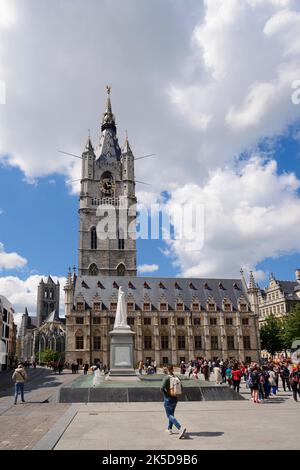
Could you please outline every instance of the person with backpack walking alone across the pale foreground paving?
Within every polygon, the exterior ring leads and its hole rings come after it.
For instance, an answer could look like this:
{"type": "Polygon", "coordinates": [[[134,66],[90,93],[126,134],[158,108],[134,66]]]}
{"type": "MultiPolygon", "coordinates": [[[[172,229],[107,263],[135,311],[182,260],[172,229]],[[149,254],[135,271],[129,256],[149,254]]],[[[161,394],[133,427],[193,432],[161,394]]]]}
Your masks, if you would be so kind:
{"type": "Polygon", "coordinates": [[[180,431],[179,439],[182,439],[186,433],[186,428],[182,427],[174,416],[178,396],[182,394],[181,381],[174,375],[173,366],[164,369],[164,373],[166,375],[162,381],[161,391],[164,394],[164,407],[169,420],[167,432],[173,434],[172,428],[174,425],[180,431]]]}

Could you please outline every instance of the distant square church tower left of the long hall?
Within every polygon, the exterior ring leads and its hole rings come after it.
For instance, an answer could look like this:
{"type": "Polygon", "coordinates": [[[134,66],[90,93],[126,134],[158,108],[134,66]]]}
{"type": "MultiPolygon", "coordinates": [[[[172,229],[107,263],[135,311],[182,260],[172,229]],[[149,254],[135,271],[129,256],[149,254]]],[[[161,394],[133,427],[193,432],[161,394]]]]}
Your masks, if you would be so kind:
{"type": "Polygon", "coordinates": [[[42,279],[39,283],[36,311],[38,327],[53,311],[59,314],[59,292],[59,282],[55,283],[51,276],[48,277],[47,282],[42,279]]]}

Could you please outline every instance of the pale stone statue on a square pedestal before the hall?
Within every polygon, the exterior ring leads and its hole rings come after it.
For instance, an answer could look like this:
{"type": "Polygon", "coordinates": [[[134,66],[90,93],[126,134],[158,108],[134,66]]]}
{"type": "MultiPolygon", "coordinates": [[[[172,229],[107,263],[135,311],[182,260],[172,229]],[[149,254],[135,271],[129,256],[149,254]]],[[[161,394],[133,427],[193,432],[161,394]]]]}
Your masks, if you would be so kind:
{"type": "Polygon", "coordinates": [[[127,303],[122,287],[119,287],[117,312],[114,329],[110,334],[110,372],[109,379],[138,377],[133,366],[134,332],[127,324],[127,303]]]}

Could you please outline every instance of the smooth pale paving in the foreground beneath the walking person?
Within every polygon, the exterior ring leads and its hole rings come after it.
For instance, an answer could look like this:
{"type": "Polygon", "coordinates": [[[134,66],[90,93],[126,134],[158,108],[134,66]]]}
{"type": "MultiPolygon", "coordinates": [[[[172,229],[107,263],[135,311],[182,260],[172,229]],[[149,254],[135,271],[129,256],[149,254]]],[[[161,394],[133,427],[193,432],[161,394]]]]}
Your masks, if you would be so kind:
{"type": "Polygon", "coordinates": [[[251,401],[180,402],[186,439],[165,432],[162,403],[78,405],[55,450],[300,449],[300,403],[290,394],[251,401]]]}

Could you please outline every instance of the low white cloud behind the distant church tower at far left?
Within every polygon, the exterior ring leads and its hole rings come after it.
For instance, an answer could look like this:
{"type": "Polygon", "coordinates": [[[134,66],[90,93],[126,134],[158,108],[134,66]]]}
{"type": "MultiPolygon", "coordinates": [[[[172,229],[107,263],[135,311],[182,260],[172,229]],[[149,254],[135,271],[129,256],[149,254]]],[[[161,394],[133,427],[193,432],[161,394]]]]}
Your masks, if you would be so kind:
{"type": "MultiPolygon", "coordinates": [[[[36,315],[37,288],[41,278],[48,276],[33,275],[22,280],[16,276],[0,277],[0,294],[7,297],[17,314],[23,314],[27,307],[29,314],[36,315]]],[[[64,311],[65,277],[51,276],[54,282],[60,283],[60,312],[64,311]]]]}

